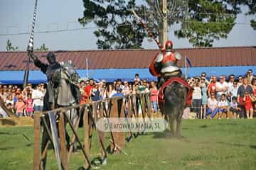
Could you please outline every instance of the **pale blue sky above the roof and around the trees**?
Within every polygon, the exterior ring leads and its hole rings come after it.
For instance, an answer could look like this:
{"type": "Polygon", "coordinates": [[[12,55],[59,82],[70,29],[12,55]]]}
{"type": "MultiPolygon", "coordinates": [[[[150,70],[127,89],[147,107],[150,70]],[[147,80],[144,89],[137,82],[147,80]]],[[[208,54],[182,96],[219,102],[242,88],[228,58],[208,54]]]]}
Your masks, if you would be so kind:
{"type": "MultiPolygon", "coordinates": [[[[0,51],[6,50],[6,41],[11,40],[19,50],[26,50],[28,45],[28,34],[3,35],[28,33],[31,28],[33,8],[35,0],[0,0],[0,51]]],[[[247,8],[242,8],[244,12],[247,8]]],[[[82,28],[78,18],[83,16],[82,0],[38,0],[38,13],[36,18],[37,31],[53,31],[61,29],[82,28]]],[[[256,45],[256,30],[250,27],[250,18],[256,16],[245,16],[240,14],[237,24],[228,35],[227,39],[214,42],[215,47],[228,46],[250,46],[256,45]]],[[[92,24],[86,26],[89,29],[75,30],[60,33],[35,33],[35,48],[43,43],[50,50],[95,50],[97,38],[93,35],[96,29],[92,24]]],[[[169,39],[173,40],[174,47],[192,47],[186,39],[174,37],[174,28],[169,28],[169,39]]],[[[154,41],[144,40],[143,47],[156,49],[154,41]]]]}

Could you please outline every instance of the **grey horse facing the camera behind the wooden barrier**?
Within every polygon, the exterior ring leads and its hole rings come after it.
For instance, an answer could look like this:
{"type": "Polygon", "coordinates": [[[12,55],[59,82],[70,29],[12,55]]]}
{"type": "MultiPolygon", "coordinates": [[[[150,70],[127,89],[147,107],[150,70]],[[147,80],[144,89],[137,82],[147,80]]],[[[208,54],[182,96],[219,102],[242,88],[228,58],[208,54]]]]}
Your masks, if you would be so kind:
{"type": "MultiPolygon", "coordinates": [[[[76,85],[79,77],[78,73],[75,71],[75,68],[70,62],[62,62],[60,63],[60,68],[56,69],[53,73],[53,86],[54,86],[54,108],[60,107],[67,107],[67,106],[75,106],[79,104],[80,101],[80,91],[78,86],[76,85]]],[[[48,102],[48,92],[46,91],[46,96],[43,99],[44,103],[44,110],[49,111],[50,106],[48,102]]],[[[69,111],[64,113],[67,117],[72,121],[73,125],[77,123],[78,120],[78,109],[72,108],[69,111]]],[[[58,124],[58,114],[56,117],[57,124],[58,124]]],[[[42,144],[41,150],[45,149],[46,145],[48,145],[49,138],[49,129],[50,129],[50,121],[49,117],[46,114],[46,118],[43,118],[46,122],[47,127],[43,128],[43,137],[42,137],[42,144]],[[47,130],[48,128],[48,130],[47,130]],[[47,132],[48,131],[48,132],[47,132]]],[[[67,120],[65,120],[65,123],[67,120]]],[[[57,126],[58,127],[58,126],[57,126]]],[[[67,130],[65,130],[67,146],[70,147],[70,137],[68,135],[67,130]]],[[[75,147],[75,145],[73,146],[75,147]]],[[[76,148],[76,147],[75,147],[76,148]]],[[[45,159],[42,160],[41,166],[45,169],[46,166],[46,155],[44,156],[45,159]]]]}

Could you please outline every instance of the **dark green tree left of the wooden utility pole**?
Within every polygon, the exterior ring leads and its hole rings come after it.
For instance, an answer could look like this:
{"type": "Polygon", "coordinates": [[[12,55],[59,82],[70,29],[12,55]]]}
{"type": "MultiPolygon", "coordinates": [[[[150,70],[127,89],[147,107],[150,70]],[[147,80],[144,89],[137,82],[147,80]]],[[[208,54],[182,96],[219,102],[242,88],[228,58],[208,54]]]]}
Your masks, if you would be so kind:
{"type": "Polygon", "coordinates": [[[129,11],[135,0],[83,0],[85,11],[78,21],[94,22],[99,29],[94,34],[100,49],[141,48],[146,33],[142,25],[129,11]]]}

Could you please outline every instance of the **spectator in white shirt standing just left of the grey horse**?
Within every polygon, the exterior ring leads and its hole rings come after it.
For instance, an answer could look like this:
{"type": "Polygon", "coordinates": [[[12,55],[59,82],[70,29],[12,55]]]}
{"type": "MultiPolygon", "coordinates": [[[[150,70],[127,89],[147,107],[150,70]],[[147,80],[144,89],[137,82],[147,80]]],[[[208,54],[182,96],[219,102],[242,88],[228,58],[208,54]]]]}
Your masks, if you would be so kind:
{"type": "Polygon", "coordinates": [[[43,111],[43,91],[41,91],[41,84],[36,86],[36,89],[32,91],[33,110],[43,111]]]}

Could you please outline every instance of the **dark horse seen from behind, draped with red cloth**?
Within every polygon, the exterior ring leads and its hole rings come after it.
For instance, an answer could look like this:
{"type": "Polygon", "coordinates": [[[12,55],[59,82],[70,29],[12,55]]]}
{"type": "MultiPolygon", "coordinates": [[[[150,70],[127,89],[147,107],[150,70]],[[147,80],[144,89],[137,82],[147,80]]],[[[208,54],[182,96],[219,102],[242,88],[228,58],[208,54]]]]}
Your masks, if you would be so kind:
{"type": "Polygon", "coordinates": [[[181,137],[181,118],[190,95],[191,87],[181,77],[181,74],[178,77],[168,77],[161,86],[159,108],[169,121],[171,136],[181,137]]]}

